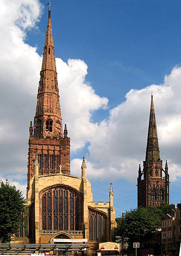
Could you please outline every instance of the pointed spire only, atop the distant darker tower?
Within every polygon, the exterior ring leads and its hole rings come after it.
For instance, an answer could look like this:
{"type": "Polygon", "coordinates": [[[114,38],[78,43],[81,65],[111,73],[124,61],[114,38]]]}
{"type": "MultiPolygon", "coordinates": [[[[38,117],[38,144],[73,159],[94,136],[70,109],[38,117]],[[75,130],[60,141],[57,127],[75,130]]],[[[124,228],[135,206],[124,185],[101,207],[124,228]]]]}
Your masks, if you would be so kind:
{"type": "Polygon", "coordinates": [[[147,150],[145,161],[160,160],[159,143],[157,137],[156,118],[154,114],[153,95],[151,94],[150,121],[148,127],[147,150]]]}

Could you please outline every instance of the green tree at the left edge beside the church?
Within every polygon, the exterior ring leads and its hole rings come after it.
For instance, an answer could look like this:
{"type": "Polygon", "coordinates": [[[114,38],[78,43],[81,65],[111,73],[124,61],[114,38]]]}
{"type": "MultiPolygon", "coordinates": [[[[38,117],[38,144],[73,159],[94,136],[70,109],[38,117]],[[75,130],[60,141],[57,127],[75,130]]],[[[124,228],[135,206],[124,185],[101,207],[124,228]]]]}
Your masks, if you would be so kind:
{"type": "Polygon", "coordinates": [[[25,200],[22,192],[8,182],[0,182],[0,240],[7,243],[23,225],[25,200]]]}

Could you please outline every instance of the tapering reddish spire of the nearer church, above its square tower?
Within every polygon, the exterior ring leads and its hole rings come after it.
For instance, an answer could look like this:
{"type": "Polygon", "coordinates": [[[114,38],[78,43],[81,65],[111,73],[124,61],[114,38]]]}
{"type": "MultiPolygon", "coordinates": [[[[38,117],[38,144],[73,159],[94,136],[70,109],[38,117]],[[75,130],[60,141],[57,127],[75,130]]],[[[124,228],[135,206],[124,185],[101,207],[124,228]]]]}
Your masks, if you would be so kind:
{"type": "Polygon", "coordinates": [[[43,139],[47,136],[57,138],[63,136],[50,4],[43,50],[42,70],[40,71],[37,94],[36,115],[34,117],[34,136],[43,139]]]}

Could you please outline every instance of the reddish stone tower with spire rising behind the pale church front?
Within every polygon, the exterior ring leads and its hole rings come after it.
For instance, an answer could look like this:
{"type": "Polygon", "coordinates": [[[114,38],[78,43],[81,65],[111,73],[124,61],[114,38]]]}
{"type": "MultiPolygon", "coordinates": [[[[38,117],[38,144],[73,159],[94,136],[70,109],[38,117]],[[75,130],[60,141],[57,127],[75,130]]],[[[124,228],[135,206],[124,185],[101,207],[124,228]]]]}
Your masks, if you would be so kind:
{"type": "Polygon", "coordinates": [[[38,159],[39,175],[70,174],[70,139],[62,128],[56,60],[51,28],[51,10],[48,10],[42,69],[37,93],[34,126],[30,122],[28,150],[27,192],[34,176],[34,161],[38,159]]]}

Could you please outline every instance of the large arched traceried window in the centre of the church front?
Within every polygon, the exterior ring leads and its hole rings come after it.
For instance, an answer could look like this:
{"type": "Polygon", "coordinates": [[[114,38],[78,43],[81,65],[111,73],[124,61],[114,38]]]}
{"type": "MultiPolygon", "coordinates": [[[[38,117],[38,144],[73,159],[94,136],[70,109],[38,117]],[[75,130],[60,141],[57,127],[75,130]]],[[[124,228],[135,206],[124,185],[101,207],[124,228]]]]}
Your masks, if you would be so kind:
{"type": "Polygon", "coordinates": [[[71,188],[55,187],[43,192],[42,230],[80,230],[81,195],[71,188]]]}

